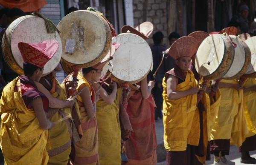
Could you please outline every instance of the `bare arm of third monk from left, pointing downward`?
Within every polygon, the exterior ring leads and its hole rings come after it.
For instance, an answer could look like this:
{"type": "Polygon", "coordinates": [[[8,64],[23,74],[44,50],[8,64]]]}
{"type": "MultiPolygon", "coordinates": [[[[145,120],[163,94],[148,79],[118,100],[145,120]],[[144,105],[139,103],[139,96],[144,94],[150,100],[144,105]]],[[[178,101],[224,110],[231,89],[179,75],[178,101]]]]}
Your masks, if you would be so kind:
{"type": "Polygon", "coordinates": [[[87,115],[92,119],[96,115],[96,108],[93,106],[93,102],[90,97],[89,88],[84,87],[84,85],[81,85],[79,87],[79,91],[81,91],[80,96],[82,97],[84,108],[86,109],[87,115]]]}

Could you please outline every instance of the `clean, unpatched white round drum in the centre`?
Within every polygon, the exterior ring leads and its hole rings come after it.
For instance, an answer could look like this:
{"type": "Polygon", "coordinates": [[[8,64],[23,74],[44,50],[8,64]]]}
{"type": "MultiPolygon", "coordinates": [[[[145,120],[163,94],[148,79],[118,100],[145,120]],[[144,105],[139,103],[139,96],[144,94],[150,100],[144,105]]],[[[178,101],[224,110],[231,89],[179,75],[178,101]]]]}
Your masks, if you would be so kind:
{"type": "Polygon", "coordinates": [[[153,62],[152,52],[148,43],[140,36],[122,33],[112,38],[112,42],[120,43],[113,54],[111,78],[118,83],[138,83],[145,78],[153,62]]]}

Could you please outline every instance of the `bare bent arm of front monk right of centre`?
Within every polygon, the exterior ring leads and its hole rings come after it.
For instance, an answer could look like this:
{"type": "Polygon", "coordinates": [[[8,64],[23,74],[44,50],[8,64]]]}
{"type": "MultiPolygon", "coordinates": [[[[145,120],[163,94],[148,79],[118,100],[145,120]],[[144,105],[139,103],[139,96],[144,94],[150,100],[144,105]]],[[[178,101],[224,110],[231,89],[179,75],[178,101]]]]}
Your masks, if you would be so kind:
{"type": "Polygon", "coordinates": [[[199,88],[190,88],[186,91],[176,91],[177,89],[177,78],[169,74],[167,77],[167,96],[170,100],[180,99],[191,94],[196,94],[199,91],[199,88]]]}

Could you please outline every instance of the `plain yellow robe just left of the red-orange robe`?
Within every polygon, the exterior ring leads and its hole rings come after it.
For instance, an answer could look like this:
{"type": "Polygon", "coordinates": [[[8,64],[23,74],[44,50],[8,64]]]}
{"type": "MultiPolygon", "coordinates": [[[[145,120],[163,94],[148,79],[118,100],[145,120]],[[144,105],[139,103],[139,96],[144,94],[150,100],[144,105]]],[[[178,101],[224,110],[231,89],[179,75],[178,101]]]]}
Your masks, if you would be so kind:
{"type": "Polygon", "coordinates": [[[121,165],[121,128],[119,122],[119,101],[122,88],[110,105],[102,98],[96,103],[99,136],[99,162],[102,165],[121,165]]]}

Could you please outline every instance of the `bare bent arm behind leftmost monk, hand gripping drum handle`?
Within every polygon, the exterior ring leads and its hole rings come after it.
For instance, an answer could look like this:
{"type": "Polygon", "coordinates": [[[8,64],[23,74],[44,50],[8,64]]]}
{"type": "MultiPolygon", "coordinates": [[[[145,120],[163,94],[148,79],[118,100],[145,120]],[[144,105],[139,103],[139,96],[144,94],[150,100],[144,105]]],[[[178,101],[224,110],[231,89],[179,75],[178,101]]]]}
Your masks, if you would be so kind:
{"type": "Polygon", "coordinates": [[[57,99],[55,97],[52,97],[50,92],[46,88],[44,88],[44,85],[38,82],[35,82],[35,84],[37,85],[38,90],[41,91],[43,94],[45,94],[45,96],[48,98],[50,103],[49,104],[50,108],[64,108],[64,107],[72,107],[74,105],[75,101],[72,100],[71,98],[67,100],[57,99]]]}

